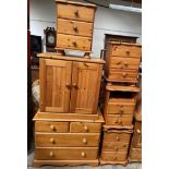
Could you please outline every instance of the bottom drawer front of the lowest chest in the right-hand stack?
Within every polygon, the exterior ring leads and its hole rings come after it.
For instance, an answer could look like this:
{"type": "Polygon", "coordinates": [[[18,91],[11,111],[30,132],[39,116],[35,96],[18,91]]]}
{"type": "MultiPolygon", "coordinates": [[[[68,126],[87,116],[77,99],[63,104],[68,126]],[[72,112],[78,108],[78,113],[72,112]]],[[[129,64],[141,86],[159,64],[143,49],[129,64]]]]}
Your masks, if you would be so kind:
{"type": "Polygon", "coordinates": [[[126,160],[126,152],[102,152],[101,159],[107,161],[126,160]]]}

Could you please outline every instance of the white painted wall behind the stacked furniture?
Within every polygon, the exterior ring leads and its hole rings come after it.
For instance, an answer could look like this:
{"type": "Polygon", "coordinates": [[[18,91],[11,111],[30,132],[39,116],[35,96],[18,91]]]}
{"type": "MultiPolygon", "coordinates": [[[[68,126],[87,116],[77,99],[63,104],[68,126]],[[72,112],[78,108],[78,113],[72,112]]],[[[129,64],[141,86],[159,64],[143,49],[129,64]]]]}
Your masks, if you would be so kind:
{"type": "MultiPolygon", "coordinates": [[[[55,0],[31,0],[31,34],[44,38],[47,26],[56,27],[55,0]]],[[[142,14],[98,7],[94,24],[93,57],[100,56],[105,34],[137,36],[137,43],[141,44],[142,14]]]]}

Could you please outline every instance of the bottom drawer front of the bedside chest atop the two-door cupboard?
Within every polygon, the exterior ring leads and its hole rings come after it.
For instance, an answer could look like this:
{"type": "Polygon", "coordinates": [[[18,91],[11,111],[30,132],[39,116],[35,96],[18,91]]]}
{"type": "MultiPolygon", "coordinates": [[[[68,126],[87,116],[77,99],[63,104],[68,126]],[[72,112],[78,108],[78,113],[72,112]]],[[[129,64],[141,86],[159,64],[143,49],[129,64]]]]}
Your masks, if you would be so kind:
{"type": "Polygon", "coordinates": [[[57,48],[90,51],[90,45],[88,37],[57,34],[57,48]]]}

